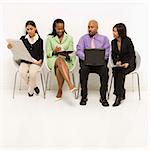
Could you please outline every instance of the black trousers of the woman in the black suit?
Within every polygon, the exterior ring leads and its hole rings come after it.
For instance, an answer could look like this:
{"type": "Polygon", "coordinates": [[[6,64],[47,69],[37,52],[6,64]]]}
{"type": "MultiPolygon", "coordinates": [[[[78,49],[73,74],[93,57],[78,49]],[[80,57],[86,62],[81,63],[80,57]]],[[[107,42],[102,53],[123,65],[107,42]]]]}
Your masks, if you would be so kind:
{"type": "Polygon", "coordinates": [[[121,68],[115,67],[113,68],[113,76],[114,76],[114,94],[118,97],[125,96],[125,77],[127,74],[132,72],[135,67],[121,68]]]}

